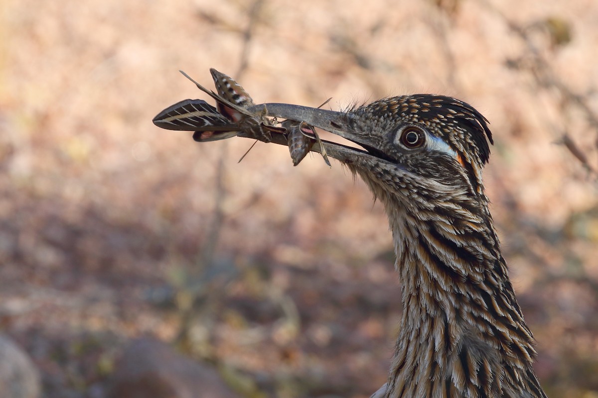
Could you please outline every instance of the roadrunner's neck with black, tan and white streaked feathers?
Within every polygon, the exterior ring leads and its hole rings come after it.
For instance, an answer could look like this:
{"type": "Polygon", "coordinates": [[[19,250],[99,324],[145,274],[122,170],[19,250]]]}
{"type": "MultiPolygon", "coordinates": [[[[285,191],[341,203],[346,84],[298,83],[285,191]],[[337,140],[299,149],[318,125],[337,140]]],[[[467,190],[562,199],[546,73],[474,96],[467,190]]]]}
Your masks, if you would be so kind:
{"type": "Polygon", "coordinates": [[[486,203],[444,218],[383,202],[403,304],[387,396],[510,396],[535,351],[486,203]]]}

